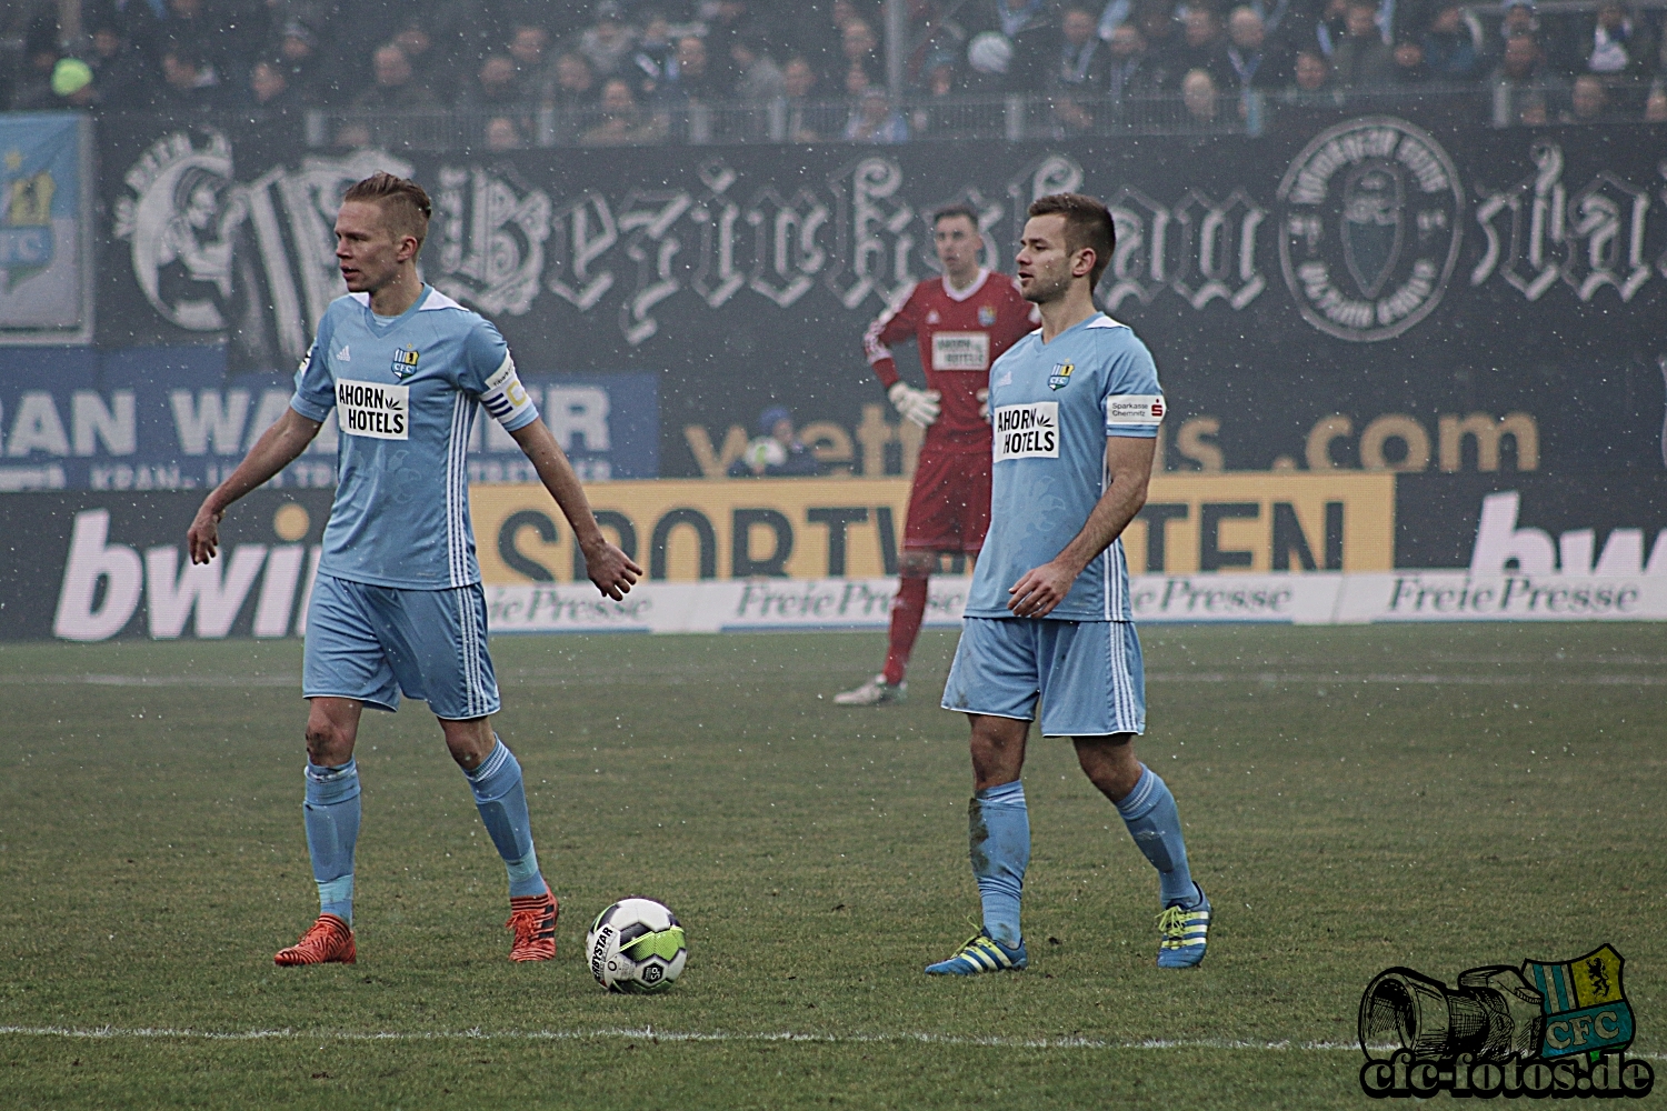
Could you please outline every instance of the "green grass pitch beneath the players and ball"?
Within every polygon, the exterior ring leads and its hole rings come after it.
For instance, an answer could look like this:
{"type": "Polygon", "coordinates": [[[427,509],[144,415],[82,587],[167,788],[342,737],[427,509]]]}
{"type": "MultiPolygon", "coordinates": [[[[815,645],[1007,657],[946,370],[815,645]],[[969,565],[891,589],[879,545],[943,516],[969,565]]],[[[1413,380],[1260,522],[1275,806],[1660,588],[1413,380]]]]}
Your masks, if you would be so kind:
{"type": "Polygon", "coordinates": [[[1032,738],[1032,968],[970,931],[965,723],[832,705],[875,635],[498,640],[560,958],[512,966],[503,869],[425,708],[367,713],[357,966],[317,913],[300,646],[0,646],[7,1108],[1367,1106],[1355,1009],[1409,964],[1627,958],[1667,1049],[1667,628],[1144,631],[1152,730],[1217,908],[1154,968],[1157,883],[1032,738]],[[580,948],[623,894],[690,936],[665,996],[580,948]]]}

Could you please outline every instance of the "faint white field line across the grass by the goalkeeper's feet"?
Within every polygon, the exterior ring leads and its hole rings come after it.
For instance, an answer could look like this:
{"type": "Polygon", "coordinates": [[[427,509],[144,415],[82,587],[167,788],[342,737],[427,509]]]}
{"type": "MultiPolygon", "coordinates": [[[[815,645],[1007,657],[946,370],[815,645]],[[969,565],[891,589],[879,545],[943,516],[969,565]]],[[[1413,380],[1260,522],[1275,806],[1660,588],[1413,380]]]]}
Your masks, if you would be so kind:
{"type": "MultiPolygon", "coordinates": [[[[555,686],[635,683],[642,676],[622,671],[613,676],[573,675],[555,686]]],[[[663,678],[663,676],[662,676],[663,678]]],[[[1454,675],[1454,673],[1372,673],[1337,671],[1149,671],[1149,683],[1262,683],[1279,686],[1667,686],[1667,673],[1654,675],[1454,675]]],[[[298,675],[3,675],[0,686],[300,686],[298,675]]],[[[505,675],[503,686],[550,686],[537,678],[505,675]]]]}

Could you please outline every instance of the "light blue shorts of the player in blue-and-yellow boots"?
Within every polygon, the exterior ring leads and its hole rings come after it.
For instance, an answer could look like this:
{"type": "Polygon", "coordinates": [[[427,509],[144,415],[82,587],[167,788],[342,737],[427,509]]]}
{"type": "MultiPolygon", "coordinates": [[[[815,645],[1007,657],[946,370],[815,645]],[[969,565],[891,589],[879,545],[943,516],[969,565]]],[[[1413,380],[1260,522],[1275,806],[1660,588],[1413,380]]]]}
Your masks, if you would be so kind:
{"type": "Polygon", "coordinates": [[[944,710],[1035,720],[1042,736],[1145,733],[1145,668],[1130,621],[965,618],[944,710]]]}

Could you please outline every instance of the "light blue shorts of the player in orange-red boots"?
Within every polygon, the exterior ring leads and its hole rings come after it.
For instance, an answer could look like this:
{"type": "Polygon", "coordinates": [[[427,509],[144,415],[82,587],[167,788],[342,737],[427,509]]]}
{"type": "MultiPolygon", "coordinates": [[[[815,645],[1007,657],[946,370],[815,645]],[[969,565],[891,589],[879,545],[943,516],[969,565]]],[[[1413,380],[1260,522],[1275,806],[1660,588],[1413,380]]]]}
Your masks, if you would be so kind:
{"type": "Polygon", "coordinates": [[[393,710],[402,691],[448,721],[498,711],[480,583],[393,590],[320,575],[307,603],[302,695],[393,710]]]}

